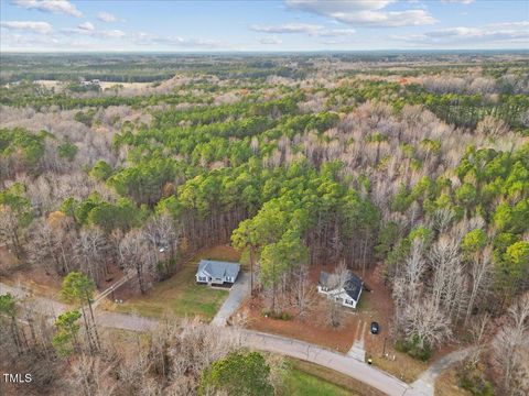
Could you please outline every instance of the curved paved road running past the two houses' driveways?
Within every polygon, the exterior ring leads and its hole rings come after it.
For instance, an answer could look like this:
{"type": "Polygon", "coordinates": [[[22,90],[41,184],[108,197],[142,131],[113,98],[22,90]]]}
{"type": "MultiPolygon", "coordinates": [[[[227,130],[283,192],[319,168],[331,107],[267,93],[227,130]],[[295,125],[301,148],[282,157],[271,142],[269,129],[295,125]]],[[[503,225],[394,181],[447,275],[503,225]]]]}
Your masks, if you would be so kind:
{"type": "MultiPolygon", "coordinates": [[[[45,297],[36,297],[26,292],[23,287],[9,286],[0,283],[0,295],[6,293],[10,293],[18,298],[31,297],[34,305],[36,305],[41,311],[50,312],[53,318],[68,308],[68,306],[55,300],[45,297]]],[[[100,326],[116,329],[147,331],[155,329],[159,324],[156,319],[137,317],[126,314],[97,310],[95,315],[97,322],[100,326]]],[[[400,380],[354,358],[303,341],[241,329],[240,343],[251,349],[280,353],[335,370],[359,382],[363,382],[386,395],[429,395],[429,392],[423,392],[422,387],[418,388],[415,386],[410,386],[400,380]]]]}

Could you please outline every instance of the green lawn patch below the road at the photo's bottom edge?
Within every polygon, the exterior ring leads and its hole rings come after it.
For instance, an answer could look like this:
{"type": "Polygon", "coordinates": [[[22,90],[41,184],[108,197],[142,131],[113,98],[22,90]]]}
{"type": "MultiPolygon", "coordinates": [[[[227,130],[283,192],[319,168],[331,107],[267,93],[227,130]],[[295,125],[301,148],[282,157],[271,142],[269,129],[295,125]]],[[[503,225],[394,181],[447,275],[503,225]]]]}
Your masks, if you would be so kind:
{"type": "Polygon", "coordinates": [[[349,396],[347,391],[338,385],[307,374],[298,369],[292,369],[285,384],[285,395],[293,396],[349,396]]]}

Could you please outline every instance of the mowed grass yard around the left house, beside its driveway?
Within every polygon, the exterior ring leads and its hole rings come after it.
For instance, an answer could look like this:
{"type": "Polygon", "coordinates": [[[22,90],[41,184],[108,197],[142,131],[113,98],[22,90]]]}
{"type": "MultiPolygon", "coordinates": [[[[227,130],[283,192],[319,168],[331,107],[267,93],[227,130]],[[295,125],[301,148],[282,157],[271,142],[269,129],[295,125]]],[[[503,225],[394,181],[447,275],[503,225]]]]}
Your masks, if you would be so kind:
{"type": "Polygon", "coordinates": [[[238,261],[236,251],[217,246],[199,251],[170,279],[155,284],[144,296],[136,296],[123,304],[107,304],[106,308],[145,317],[194,317],[212,320],[229,292],[197,285],[195,273],[202,258],[238,261]]]}

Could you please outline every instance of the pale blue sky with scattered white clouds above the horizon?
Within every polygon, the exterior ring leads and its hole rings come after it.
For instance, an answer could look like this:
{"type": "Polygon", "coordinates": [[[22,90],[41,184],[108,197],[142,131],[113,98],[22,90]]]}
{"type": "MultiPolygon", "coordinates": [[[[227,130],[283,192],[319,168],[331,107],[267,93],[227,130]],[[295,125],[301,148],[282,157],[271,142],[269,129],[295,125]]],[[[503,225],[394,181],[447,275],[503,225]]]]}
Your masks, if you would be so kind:
{"type": "Polygon", "coordinates": [[[0,51],[529,48],[528,0],[0,0],[0,51]]]}

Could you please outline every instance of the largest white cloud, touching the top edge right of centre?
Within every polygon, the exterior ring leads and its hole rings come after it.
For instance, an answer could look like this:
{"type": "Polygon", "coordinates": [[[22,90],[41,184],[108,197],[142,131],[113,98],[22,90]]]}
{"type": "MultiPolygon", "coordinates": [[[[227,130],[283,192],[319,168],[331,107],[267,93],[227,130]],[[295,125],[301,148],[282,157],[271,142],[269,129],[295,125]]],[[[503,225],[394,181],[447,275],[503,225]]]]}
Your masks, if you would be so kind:
{"type": "Polygon", "coordinates": [[[396,0],[287,0],[287,6],[336,21],[367,26],[409,26],[438,21],[427,10],[384,11],[396,0]]]}

